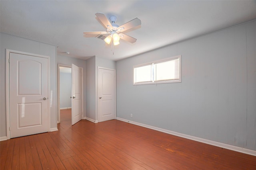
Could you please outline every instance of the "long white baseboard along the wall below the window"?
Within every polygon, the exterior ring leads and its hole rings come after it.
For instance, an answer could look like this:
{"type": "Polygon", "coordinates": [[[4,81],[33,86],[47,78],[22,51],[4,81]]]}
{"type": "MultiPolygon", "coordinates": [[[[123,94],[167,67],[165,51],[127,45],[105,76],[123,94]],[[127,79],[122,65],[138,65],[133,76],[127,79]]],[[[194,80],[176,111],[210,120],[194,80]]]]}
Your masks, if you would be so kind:
{"type": "Polygon", "coordinates": [[[127,120],[127,119],[122,119],[120,117],[116,117],[116,119],[120,120],[120,121],[125,121],[125,122],[128,122],[128,123],[132,123],[134,125],[139,125],[139,126],[142,126],[142,127],[146,127],[146,128],[149,128],[149,129],[154,129],[156,131],[160,131],[160,132],[168,133],[168,134],[171,134],[171,135],[175,135],[175,136],[178,136],[178,137],[183,137],[183,138],[190,139],[190,140],[193,140],[193,141],[198,141],[198,142],[206,143],[206,144],[213,145],[213,146],[216,146],[216,147],[221,147],[221,148],[234,150],[234,151],[237,151],[237,152],[242,152],[242,153],[245,153],[245,154],[250,154],[250,155],[256,156],[256,151],[255,150],[244,149],[244,148],[240,148],[240,147],[236,147],[236,146],[232,146],[232,145],[228,145],[228,144],[224,144],[224,143],[219,143],[219,142],[210,141],[210,140],[207,140],[207,139],[202,139],[202,138],[199,138],[199,137],[185,135],[185,134],[182,134],[182,133],[162,129],[162,128],[159,128],[159,127],[145,125],[145,124],[138,123],[138,122],[135,122],[135,121],[130,121],[130,120],[127,120]]]}

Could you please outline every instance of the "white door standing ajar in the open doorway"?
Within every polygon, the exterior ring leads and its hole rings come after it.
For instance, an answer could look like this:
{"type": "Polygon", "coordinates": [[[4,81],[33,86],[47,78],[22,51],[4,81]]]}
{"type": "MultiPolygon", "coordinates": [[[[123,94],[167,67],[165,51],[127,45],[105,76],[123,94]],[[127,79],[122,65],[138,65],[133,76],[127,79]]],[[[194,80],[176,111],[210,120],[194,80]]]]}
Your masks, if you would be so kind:
{"type": "Polygon", "coordinates": [[[72,64],[72,125],[82,119],[82,71],[81,69],[72,64]]]}

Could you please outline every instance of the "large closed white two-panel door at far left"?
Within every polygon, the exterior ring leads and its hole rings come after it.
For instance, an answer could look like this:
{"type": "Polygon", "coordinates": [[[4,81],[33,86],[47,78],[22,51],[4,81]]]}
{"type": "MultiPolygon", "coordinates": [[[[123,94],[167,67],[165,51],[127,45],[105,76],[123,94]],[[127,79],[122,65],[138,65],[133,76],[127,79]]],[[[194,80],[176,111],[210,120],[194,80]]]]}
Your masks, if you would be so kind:
{"type": "Polygon", "coordinates": [[[48,132],[48,59],[9,57],[10,138],[48,132]]]}

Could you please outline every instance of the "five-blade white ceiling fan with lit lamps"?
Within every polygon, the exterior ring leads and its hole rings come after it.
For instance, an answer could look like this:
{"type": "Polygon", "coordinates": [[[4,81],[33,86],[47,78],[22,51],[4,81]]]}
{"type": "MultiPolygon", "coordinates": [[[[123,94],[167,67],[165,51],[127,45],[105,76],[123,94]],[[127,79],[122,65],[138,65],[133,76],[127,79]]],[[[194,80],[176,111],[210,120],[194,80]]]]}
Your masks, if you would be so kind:
{"type": "Polygon", "coordinates": [[[113,43],[113,45],[118,45],[119,40],[123,39],[130,43],[135,43],[137,39],[130,37],[124,33],[138,29],[141,26],[141,21],[135,18],[124,25],[116,25],[116,16],[111,16],[108,18],[103,13],[96,13],[97,20],[106,27],[106,31],[94,31],[94,32],[84,32],[84,37],[97,37],[104,39],[107,44],[113,43]]]}

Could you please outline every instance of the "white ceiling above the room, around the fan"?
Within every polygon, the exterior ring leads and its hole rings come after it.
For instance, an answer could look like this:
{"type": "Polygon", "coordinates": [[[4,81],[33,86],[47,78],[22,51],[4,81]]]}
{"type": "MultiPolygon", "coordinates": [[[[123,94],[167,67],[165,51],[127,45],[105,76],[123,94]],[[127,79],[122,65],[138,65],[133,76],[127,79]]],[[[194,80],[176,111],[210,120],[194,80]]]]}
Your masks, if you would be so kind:
{"type": "Polygon", "coordinates": [[[0,7],[3,33],[57,45],[58,55],[115,61],[256,18],[255,0],[0,0],[0,7]],[[104,40],[83,37],[83,31],[106,31],[97,12],[116,16],[118,25],[139,18],[141,28],[126,33],[137,42],[120,40],[111,49],[104,40]]]}

